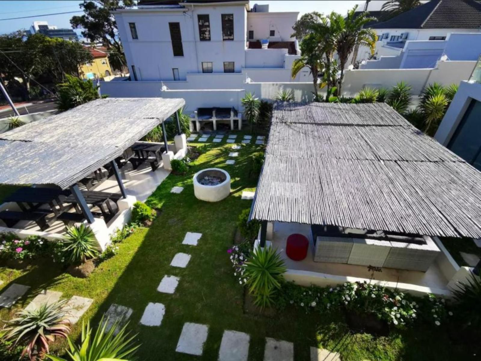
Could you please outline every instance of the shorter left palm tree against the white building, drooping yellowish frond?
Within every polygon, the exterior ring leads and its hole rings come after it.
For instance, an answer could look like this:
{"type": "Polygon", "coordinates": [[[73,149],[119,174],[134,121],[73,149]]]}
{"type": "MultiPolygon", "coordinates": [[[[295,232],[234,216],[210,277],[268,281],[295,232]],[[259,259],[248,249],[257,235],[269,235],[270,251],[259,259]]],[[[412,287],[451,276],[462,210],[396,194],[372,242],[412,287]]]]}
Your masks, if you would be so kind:
{"type": "Polygon", "coordinates": [[[312,82],[314,86],[314,100],[319,101],[319,94],[317,91],[317,76],[319,71],[324,69],[322,62],[322,54],[319,52],[318,39],[316,34],[307,34],[301,41],[301,57],[294,60],[291,68],[291,77],[295,78],[302,68],[307,67],[312,74],[312,82]]]}

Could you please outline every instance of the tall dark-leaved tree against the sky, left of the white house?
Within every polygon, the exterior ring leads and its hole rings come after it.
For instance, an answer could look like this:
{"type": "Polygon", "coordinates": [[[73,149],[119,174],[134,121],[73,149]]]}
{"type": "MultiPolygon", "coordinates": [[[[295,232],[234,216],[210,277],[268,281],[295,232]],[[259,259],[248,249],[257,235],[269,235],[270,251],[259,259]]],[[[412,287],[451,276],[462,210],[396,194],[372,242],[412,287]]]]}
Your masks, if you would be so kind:
{"type": "Polygon", "coordinates": [[[113,46],[117,52],[122,52],[117,36],[117,24],[114,15],[110,12],[115,9],[129,8],[134,4],[133,0],[84,0],[80,4],[84,14],[72,16],[70,24],[76,29],[82,29],[82,35],[90,41],[101,41],[107,49],[113,46]]]}

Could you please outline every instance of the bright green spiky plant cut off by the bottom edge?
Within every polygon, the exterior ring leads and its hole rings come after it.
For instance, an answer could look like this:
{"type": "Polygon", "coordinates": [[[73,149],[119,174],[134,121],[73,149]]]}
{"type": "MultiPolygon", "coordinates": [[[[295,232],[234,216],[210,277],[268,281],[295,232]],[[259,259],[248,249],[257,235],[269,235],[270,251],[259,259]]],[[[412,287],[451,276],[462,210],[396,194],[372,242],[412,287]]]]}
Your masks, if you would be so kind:
{"type": "MultiPolygon", "coordinates": [[[[127,357],[132,357],[140,347],[133,342],[137,335],[130,336],[130,332],[127,332],[128,323],[115,335],[115,330],[119,326],[118,320],[109,331],[107,331],[107,322],[108,318],[104,320],[102,316],[94,335],[92,335],[90,322],[87,322],[87,325],[82,323],[80,345],[75,345],[67,337],[70,349],[66,350],[66,353],[69,359],[72,361],[127,361],[127,357]]],[[[53,355],[45,356],[52,361],[67,361],[53,355]]]]}

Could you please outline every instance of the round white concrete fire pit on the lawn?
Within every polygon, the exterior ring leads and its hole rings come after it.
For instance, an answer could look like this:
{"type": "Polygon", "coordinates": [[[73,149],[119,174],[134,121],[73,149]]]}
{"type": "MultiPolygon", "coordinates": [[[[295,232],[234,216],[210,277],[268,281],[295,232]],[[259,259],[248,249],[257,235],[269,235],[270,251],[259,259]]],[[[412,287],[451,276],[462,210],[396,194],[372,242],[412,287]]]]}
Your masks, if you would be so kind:
{"type": "Polygon", "coordinates": [[[194,175],[194,194],[206,202],[218,202],[230,193],[230,176],[225,170],[207,168],[194,175]]]}

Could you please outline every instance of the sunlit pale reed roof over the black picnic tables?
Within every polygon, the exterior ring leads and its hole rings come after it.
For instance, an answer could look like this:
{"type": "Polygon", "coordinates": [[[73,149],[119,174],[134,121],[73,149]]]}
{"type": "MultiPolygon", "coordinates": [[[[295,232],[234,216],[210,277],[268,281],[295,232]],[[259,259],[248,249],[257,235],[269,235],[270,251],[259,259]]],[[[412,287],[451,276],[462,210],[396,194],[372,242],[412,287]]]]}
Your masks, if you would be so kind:
{"type": "Polygon", "coordinates": [[[185,104],[183,99],[98,99],[0,134],[0,184],[70,187],[185,104]]]}

